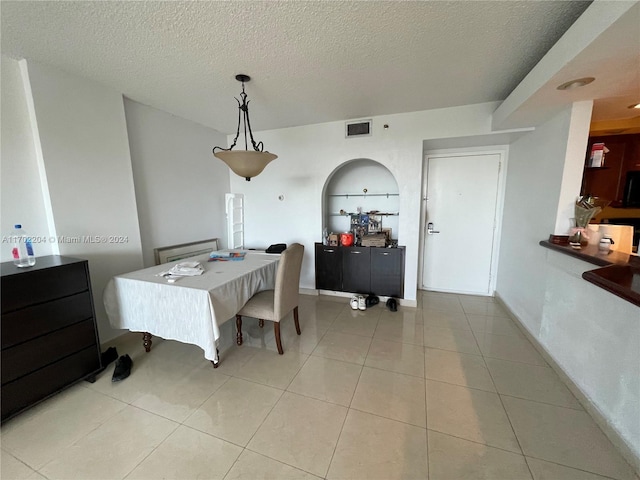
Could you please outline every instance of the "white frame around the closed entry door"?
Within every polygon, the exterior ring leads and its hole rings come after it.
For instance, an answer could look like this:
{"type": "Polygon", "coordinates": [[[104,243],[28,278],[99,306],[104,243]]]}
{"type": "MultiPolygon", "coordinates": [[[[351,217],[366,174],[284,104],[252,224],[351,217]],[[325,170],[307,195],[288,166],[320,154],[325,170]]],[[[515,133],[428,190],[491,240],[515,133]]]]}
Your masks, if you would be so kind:
{"type": "MultiPolygon", "coordinates": [[[[427,150],[424,152],[424,159],[422,162],[422,188],[421,188],[421,202],[420,202],[420,239],[418,246],[418,290],[424,290],[422,284],[424,279],[424,245],[426,240],[426,228],[427,228],[427,182],[429,172],[429,159],[430,158],[443,158],[443,157],[467,157],[472,155],[491,155],[497,154],[500,156],[500,170],[498,172],[498,191],[496,197],[496,209],[495,209],[495,225],[493,229],[493,248],[491,251],[491,269],[489,272],[489,294],[488,296],[495,296],[496,280],[498,273],[498,260],[500,253],[500,236],[502,232],[502,215],[504,210],[504,197],[506,189],[506,175],[507,175],[507,163],[509,157],[509,145],[492,145],[487,147],[468,147],[468,148],[451,148],[451,149],[437,149],[427,150]]],[[[426,291],[426,290],[425,290],[426,291]]],[[[462,293],[462,292],[443,292],[443,293],[462,293]]]]}

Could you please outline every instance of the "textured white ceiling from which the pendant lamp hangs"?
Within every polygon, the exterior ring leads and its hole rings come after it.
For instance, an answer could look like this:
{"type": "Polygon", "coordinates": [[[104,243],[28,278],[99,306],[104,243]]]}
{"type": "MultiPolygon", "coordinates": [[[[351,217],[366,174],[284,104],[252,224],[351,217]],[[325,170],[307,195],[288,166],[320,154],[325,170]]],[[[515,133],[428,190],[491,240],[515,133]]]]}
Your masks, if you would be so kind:
{"type": "Polygon", "coordinates": [[[584,1],[2,1],[1,49],[235,131],[504,99],[584,1]]]}

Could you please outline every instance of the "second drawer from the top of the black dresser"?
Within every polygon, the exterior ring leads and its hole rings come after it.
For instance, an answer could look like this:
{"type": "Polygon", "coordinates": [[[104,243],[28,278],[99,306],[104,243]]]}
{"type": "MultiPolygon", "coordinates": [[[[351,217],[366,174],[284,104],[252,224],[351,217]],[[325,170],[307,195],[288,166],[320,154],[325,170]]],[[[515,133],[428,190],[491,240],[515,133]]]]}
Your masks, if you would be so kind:
{"type": "Polygon", "coordinates": [[[2,349],[93,317],[87,291],[2,316],[2,349]]]}

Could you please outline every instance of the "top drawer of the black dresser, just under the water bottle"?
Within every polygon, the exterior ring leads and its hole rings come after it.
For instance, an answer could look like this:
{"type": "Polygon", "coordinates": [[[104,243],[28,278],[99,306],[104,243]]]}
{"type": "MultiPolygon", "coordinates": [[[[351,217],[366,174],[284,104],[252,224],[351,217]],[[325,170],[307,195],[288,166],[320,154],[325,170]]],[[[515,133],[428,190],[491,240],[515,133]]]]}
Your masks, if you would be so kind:
{"type": "Polygon", "coordinates": [[[2,313],[89,289],[86,261],[2,277],[2,313]]]}

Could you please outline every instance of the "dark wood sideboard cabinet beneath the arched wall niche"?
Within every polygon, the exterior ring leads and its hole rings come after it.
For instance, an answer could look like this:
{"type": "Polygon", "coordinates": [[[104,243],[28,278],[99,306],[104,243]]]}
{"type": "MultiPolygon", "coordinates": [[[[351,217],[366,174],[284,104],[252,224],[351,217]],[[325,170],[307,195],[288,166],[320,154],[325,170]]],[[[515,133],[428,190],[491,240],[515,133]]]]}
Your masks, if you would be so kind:
{"type": "Polygon", "coordinates": [[[404,298],[404,247],[315,247],[318,290],[404,298]]]}

